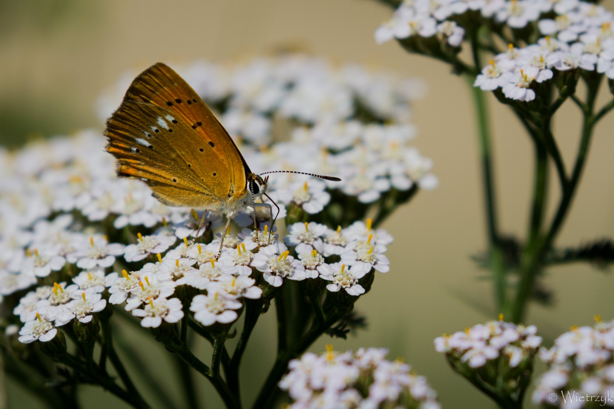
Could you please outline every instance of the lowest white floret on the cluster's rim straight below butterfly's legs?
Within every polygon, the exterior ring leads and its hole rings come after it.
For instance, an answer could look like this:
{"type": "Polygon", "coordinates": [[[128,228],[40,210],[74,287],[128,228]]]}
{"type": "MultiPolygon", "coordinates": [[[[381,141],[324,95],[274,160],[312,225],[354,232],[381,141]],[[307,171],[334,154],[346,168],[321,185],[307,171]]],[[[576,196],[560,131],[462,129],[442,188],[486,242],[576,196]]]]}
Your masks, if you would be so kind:
{"type": "Polygon", "coordinates": [[[194,312],[194,319],[204,326],[209,326],[216,322],[228,324],[238,315],[234,310],[241,308],[243,304],[233,297],[220,292],[214,292],[204,296],[198,294],[192,299],[190,311],[194,312]]]}

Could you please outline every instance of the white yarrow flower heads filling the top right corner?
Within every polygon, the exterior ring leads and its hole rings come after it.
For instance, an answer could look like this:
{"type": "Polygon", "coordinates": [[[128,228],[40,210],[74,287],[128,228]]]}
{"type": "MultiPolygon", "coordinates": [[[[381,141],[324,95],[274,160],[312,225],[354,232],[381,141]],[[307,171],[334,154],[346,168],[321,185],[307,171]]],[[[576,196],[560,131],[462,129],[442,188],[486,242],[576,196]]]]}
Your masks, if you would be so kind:
{"type": "MultiPolygon", "coordinates": [[[[475,86],[502,88],[510,99],[532,101],[537,83],[556,71],[583,69],[614,78],[614,15],[602,6],[580,0],[415,0],[405,1],[394,17],[375,32],[378,42],[411,36],[443,36],[460,47],[464,29],[448,18],[480,12],[481,17],[513,29],[537,21],[545,36],[535,44],[496,55],[475,80],[475,86]],[[554,70],[554,72],[553,72],[554,70]]],[[[480,21],[470,24],[478,25],[480,21]]]]}

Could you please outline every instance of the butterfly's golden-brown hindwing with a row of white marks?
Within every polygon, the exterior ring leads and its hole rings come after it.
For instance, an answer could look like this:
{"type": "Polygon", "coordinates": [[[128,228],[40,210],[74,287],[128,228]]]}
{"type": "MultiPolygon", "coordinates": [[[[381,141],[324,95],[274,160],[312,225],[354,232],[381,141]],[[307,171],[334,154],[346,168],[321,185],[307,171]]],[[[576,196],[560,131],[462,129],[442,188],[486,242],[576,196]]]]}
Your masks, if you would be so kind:
{"type": "Polygon", "coordinates": [[[141,178],[168,205],[216,207],[230,191],[223,158],[185,120],[146,102],[124,101],[107,121],[118,173],[141,178]]]}

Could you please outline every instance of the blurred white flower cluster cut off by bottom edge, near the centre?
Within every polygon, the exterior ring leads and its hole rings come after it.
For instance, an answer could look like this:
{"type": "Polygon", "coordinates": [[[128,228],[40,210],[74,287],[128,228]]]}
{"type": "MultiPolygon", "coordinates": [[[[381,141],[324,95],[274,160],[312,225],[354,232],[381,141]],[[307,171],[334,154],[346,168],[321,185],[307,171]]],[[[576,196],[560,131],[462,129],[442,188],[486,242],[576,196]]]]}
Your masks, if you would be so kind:
{"type": "Polygon", "coordinates": [[[360,348],[336,353],[332,345],[318,356],[306,353],[290,361],[279,382],[295,401],[291,409],[439,409],[437,393],[410,365],[387,361],[386,349],[360,348]]]}

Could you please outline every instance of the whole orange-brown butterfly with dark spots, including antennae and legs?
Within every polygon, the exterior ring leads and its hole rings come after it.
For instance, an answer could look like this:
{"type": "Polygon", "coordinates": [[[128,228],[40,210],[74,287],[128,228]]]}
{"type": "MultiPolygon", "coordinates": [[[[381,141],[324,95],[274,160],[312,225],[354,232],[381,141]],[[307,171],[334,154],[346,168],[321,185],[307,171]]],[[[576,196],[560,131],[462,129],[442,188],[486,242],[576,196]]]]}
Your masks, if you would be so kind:
{"type": "MultiPolygon", "coordinates": [[[[163,63],[134,78],[122,104],[107,119],[104,135],[120,177],[139,178],[165,205],[227,216],[218,256],[231,218],[252,210],[263,195],[270,199],[268,176],[262,175],[289,172],[341,180],[290,170],[254,174],[200,96],[163,63]]],[[[199,232],[203,224],[204,213],[199,232]]]]}

